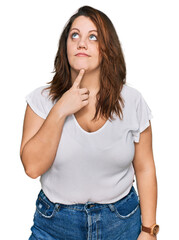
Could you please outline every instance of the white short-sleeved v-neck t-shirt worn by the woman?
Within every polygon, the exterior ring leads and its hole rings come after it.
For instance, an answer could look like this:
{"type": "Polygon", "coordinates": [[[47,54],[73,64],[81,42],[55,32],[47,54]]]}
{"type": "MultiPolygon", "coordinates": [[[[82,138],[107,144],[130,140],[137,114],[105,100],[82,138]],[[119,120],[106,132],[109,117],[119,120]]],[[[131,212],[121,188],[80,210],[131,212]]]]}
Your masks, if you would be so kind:
{"type": "MultiPolygon", "coordinates": [[[[49,99],[49,90],[41,94],[45,87],[25,97],[44,119],[55,104],[49,99]]],[[[134,142],[139,142],[153,116],[138,90],[125,84],[121,94],[125,101],[123,120],[114,114],[115,120],[107,120],[99,130],[89,133],[74,114],[65,119],[55,160],[40,177],[41,187],[52,202],[112,203],[129,193],[134,180],[134,142]]]]}

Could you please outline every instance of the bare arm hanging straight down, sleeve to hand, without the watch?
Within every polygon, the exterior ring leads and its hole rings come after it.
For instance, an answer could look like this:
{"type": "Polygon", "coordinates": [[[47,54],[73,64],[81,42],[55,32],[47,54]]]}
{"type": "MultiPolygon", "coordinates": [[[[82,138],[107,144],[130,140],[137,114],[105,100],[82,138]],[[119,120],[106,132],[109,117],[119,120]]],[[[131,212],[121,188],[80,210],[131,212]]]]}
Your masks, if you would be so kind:
{"type": "MultiPolygon", "coordinates": [[[[142,225],[151,227],[156,223],[157,209],[157,178],[152,149],[151,125],[140,133],[139,143],[135,143],[133,160],[140,200],[142,225]]],[[[154,240],[156,237],[141,232],[137,240],[154,240]]]]}

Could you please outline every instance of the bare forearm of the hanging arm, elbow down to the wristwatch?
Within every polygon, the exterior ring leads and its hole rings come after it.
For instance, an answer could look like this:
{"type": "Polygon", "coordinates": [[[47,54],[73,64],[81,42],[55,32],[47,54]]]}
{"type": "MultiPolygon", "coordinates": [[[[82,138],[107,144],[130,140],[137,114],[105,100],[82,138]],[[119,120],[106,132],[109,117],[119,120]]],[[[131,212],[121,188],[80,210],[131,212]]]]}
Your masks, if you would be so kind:
{"type": "Polygon", "coordinates": [[[156,223],[157,179],[155,168],[136,172],[137,188],[140,199],[142,224],[146,227],[156,223]]]}

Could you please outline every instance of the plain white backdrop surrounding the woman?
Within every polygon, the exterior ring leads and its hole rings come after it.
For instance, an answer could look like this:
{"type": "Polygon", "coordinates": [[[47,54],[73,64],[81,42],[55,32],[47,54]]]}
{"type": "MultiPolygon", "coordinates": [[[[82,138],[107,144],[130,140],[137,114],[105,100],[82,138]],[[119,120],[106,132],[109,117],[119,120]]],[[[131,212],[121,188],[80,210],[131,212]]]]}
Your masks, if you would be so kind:
{"type": "MultiPolygon", "coordinates": [[[[152,110],[153,151],[158,180],[158,239],[178,236],[179,14],[173,0],[1,1],[0,3],[0,216],[1,239],[30,236],[39,178],[20,160],[25,96],[52,80],[61,31],[77,9],[95,7],[118,33],[127,83],[152,110]]],[[[145,159],[144,159],[145,161],[145,159]]]]}

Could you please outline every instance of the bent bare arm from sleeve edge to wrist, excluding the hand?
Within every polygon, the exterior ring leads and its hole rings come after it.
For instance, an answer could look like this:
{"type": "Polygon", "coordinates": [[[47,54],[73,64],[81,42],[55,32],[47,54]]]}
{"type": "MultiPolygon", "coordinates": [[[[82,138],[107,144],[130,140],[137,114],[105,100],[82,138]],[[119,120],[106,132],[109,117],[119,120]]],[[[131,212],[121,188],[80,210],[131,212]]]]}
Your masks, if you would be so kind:
{"type": "Polygon", "coordinates": [[[45,173],[55,159],[65,121],[59,104],[54,105],[45,120],[27,105],[20,157],[26,174],[31,178],[45,173]]]}

